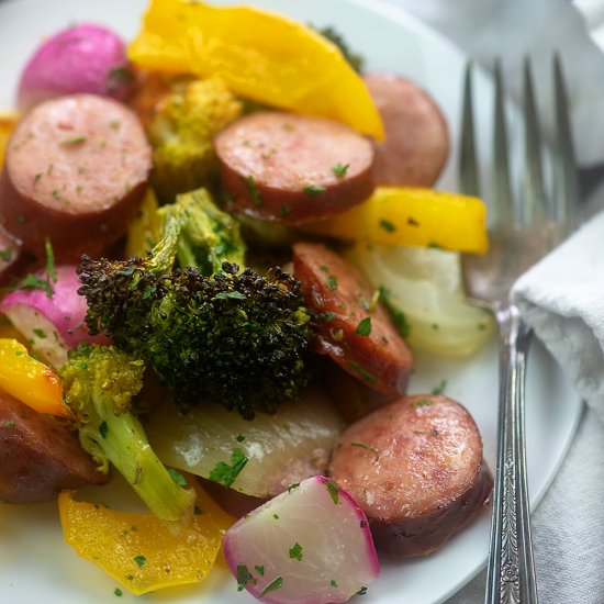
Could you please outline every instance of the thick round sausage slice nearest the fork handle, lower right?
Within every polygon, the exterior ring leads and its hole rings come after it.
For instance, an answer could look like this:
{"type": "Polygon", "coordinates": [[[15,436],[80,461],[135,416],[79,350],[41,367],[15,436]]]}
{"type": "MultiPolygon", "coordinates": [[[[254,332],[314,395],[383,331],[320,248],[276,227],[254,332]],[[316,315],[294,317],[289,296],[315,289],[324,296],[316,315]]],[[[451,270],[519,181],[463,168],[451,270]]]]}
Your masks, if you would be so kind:
{"type": "Polygon", "coordinates": [[[441,395],[406,396],[353,424],[329,474],[367,514],[376,547],[400,557],[438,549],[493,488],[471,415],[441,395]]]}

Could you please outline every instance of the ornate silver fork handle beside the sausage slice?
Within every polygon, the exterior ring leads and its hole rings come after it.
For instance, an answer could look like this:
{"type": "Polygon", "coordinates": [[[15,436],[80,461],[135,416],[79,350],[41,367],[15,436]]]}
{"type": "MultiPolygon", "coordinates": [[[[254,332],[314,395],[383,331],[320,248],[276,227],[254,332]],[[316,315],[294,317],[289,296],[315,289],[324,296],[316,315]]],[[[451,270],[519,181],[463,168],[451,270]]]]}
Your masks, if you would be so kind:
{"type": "Polygon", "coordinates": [[[533,332],[516,306],[495,309],[500,416],[485,604],[536,604],[524,428],[526,356],[533,332]]]}

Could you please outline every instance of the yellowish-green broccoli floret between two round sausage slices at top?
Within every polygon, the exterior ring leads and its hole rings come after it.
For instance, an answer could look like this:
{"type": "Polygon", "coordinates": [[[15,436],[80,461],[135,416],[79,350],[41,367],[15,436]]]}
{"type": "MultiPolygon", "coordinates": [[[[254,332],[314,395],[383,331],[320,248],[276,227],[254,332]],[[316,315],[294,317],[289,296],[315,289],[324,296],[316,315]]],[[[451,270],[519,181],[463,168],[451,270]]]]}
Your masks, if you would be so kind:
{"type": "Polygon", "coordinates": [[[163,203],[208,183],[216,167],[212,138],[241,113],[241,101],[217,78],[174,85],[147,127],[154,161],[150,182],[163,203]]]}

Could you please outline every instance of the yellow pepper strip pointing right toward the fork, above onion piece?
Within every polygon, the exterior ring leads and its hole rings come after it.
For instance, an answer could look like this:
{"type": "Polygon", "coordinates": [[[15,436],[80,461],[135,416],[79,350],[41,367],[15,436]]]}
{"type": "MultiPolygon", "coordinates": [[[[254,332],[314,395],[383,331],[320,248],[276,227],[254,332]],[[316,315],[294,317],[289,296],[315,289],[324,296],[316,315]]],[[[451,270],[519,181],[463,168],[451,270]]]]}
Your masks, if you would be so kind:
{"type": "Polygon", "coordinates": [[[489,247],[482,201],[434,189],[378,187],[359,205],[301,228],[342,239],[473,254],[484,254],[489,247]]]}

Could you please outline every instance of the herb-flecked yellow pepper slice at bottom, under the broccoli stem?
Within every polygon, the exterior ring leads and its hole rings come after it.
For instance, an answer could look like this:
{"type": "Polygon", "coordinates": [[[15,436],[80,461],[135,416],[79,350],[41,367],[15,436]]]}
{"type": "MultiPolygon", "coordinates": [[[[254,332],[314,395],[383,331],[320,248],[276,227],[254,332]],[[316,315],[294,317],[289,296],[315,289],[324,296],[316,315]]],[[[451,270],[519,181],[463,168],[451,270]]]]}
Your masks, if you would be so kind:
{"type": "Polygon", "coordinates": [[[178,536],[155,514],[110,510],[64,491],[58,506],[65,541],[135,595],[199,583],[212,570],[235,518],[194,488],[195,516],[178,536]]]}

